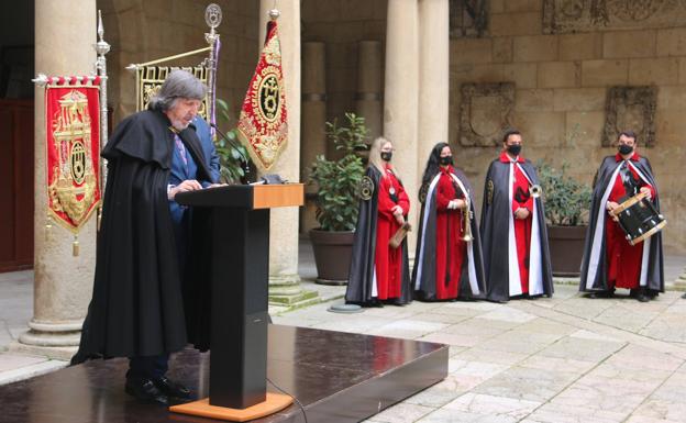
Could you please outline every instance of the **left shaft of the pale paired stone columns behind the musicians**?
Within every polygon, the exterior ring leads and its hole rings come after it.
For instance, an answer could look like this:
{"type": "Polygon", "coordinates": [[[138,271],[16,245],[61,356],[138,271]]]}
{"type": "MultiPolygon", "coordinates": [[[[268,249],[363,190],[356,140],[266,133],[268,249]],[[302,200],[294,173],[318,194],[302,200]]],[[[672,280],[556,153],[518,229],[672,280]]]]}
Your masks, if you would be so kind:
{"type": "MultiPolygon", "coordinates": [[[[419,48],[417,0],[388,0],[386,29],[386,84],[384,90],[384,135],[394,142],[398,167],[411,201],[410,222],[419,218],[417,190],[421,178],[417,167],[417,124],[419,101],[419,48]]],[[[410,232],[413,256],[416,231],[410,232]]]]}

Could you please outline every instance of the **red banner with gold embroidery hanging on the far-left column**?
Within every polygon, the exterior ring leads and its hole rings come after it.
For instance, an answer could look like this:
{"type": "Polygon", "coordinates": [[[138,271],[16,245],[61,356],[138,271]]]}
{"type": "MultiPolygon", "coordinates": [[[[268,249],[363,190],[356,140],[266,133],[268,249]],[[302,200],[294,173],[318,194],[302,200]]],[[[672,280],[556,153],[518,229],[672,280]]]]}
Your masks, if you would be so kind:
{"type": "Polygon", "coordinates": [[[47,205],[77,233],[100,203],[100,88],[45,89],[47,205]]]}

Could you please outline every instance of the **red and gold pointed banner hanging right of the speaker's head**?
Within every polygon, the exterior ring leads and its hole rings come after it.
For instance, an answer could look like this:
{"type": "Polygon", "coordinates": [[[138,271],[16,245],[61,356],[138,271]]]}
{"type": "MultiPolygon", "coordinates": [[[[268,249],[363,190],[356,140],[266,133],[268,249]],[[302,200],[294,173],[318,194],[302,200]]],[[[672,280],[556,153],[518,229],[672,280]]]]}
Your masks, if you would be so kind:
{"type": "Polygon", "coordinates": [[[267,24],[255,75],[251,79],[239,119],[239,134],[253,162],[263,170],[276,163],[288,141],[281,46],[276,21],[267,24]]]}

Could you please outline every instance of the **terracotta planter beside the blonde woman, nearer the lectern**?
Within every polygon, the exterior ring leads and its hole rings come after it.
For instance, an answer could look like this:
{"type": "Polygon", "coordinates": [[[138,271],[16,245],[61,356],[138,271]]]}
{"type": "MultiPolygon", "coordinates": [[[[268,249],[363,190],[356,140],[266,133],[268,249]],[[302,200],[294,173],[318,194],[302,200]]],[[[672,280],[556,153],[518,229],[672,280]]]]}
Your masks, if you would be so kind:
{"type": "Polygon", "coordinates": [[[353,255],[353,232],[310,231],[317,283],[346,285],[353,255]]]}

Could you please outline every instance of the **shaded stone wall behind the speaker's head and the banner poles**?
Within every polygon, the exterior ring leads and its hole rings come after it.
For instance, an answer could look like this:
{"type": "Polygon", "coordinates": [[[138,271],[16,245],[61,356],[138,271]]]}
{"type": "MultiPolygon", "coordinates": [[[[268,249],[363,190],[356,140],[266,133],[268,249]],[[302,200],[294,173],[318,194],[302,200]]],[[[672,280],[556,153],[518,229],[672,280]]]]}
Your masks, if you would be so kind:
{"type": "MultiPolygon", "coordinates": [[[[231,125],[241,111],[250,78],[257,63],[259,2],[213,0],[223,13],[218,27],[221,34],[217,79],[218,98],[230,105],[231,125]]],[[[114,123],[135,111],[135,77],[124,68],[197,48],[207,47],[204,23],[207,0],[98,0],[102,10],[108,54],[110,107],[114,123]]],[[[259,33],[259,34],[258,34],[259,33]]],[[[176,64],[197,65],[204,54],[180,59],[176,64]]]]}

